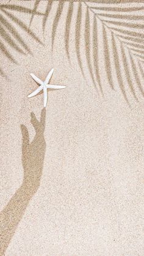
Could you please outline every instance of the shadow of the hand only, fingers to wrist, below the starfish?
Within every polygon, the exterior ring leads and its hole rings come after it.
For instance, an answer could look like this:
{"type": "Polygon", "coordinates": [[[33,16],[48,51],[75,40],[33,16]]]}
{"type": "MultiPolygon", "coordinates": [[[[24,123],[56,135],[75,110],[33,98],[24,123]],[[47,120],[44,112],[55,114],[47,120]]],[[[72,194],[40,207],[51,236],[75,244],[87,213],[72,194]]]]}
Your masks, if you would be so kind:
{"type": "Polygon", "coordinates": [[[43,162],[45,158],[46,143],[44,137],[45,131],[45,108],[41,111],[40,122],[35,117],[34,112],[31,113],[31,123],[35,129],[35,137],[29,142],[29,132],[25,125],[21,125],[21,133],[23,136],[22,145],[22,163],[24,168],[23,186],[29,192],[30,196],[34,195],[40,186],[40,178],[43,170],[43,162]]]}

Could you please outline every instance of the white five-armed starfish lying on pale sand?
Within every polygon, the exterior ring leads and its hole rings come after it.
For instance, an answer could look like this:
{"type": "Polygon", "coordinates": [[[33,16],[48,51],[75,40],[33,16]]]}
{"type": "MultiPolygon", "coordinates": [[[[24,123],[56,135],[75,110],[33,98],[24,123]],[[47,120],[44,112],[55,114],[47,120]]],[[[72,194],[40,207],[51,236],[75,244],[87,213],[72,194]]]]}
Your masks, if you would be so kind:
{"type": "Polygon", "coordinates": [[[45,81],[41,81],[41,79],[37,78],[37,76],[35,76],[34,74],[31,73],[32,78],[38,82],[38,84],[40,84],[40,87],[38,87],[38,89],[36,89],[34,92],[32,92],[31,94],[29,94],[28,98],[31,98],[35,95],[37,95],[41,90],[43,90],[44,93],[44,108],[46,108],[46,104],[48,101],[48,93],[47,93],[47,89],[63,89],[66,86],[57,86],[54,84],[48,84],[49,80],[51,79],[52,73],[54,72],[54,68],[52,68],[52,70],[48,73],[48,76],[46,76],[45,81]]]}

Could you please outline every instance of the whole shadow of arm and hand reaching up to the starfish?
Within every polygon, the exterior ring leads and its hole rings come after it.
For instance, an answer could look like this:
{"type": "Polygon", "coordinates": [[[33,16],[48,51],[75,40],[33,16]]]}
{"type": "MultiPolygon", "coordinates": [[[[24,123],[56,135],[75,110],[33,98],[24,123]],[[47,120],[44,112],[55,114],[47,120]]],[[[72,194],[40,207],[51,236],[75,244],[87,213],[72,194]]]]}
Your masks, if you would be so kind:
{"type": "Polygon", "coordinates": [[[34,140],[29,142],[29,132],[25,125],[21,125],[22,163],[24,169],[23,183],[0,213],[0,255],[4,255],[12,239],[18,223],[23,218],[24,211],[40,186],[45,158],[46,143],[45,108],[41,111],[40,122],[31,113],[31,123],[35,128],[34,140]]]}

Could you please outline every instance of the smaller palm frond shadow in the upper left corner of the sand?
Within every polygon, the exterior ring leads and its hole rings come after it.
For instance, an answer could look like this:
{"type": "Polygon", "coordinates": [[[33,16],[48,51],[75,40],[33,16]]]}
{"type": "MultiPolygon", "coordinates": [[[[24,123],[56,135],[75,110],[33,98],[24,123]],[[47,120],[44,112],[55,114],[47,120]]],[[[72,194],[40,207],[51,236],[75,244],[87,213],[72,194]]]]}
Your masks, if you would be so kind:
{"type": "MultiPolygon", "coordinates": [[[[24,35],[22,36],[19,32],[19,29],[16,28],[17,26],[20,29],[29,35],[32,39],[36,42],[43,44],[41,40],[37,37],[37,35],[32,32],[30,26],[24,24],[20,18],[17,18],[16,15],[13,14],[12,11],[17,11],[18,13],[29,13],[32,14],[30,25],[32,22],[32,18],[34,15],[43,15],[43,13],[38,12],[37,9],[29,9],[26,7],[21,7],[20,5],[11,5],[11,4],[1,4],[0,5],[0,49],[2,53],[14,64],[17,64],[17,60],[15,58],[15,54],[13,53],[13,49],[18,51],[20,54],[32,54],[31,49],[24,40],[24,35]],[[16,25],[16,26],[15,26],[16,25]],[[10,48],[12,50],[10,50],[10,48]]],[[[0,70],[0,74],[6,76],[2,69],[0,70]]]]}

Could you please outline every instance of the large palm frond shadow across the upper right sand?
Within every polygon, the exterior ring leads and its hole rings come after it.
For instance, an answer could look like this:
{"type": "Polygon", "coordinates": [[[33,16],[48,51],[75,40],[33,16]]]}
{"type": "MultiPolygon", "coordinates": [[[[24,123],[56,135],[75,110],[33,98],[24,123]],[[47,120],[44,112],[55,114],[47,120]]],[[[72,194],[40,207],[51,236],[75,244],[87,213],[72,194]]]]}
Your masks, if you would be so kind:
{"type": "MultiPolygon", "coordinates": [[[[44,31],[53,2],[51,0],[47,4],[47,11],[43,18],[44,31]]],[[[138,78],[137,76],[139,75],[135,74],[134,65],[137,69],[137,62],[144,61],[144,4],[142,4],[142,1],[138,3],[137,1],[132,1],[134,6],[129,6],[128,4],[126,5],[127,2],[131,1],[117,1],[115,5],[111,1],[59,1],[56,16],[53,18],[52,50],[60,16],[66,4],[67,17],[65,19],[64,38],[68,60],[71,62],[70,31],[72,27],[75,27],[74,42],[76,56],[84,78],[88,70],[98,94],[103,97],[106,90],[103,86],[103,74],[105,73],[105,80],[109,87],[116,90],[118,85],[124,100],[129,104],[129,93],[133,95],[136,101],[139,101],[136,87],[143,96],[142,79],[138,78]],[[77,9],[77,15],[75,16],[73,15],[74,8],[77,9]],[[138,12],[139,14],[137,14],[138,12]],[[84,22],[82,24],[84,20],[85,24],[84,22]],[[101,42],[99,40],[101,35],[101,31],[99,31],[100,23],[103,27],[101,42]],[[91,36],[91,34],[93,35],[91,36]],[[81,38],[83,37],[85,49],[81,53],[81,38]],[[103,51],[101,51],[103,64],[99,64],[100,48],[103,48],[103,51]],[[90,54],[91,52],[92,54],[90,54]],[[131,58],[132,68],[130,70],[129,59],[131,58]],[[87,70],[83,65],[84,59],[87,62],[87,70]],[[133,59],[136,59],[136,62],[133,59]],[[112,64],[115,67],[114,73],[117,81],[114,81],[113,78],[112,64]],[[135,85],[133,82],[134,78],[137,81],[135,85]]]]}

